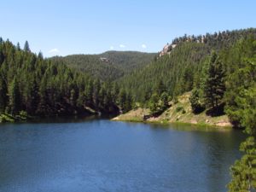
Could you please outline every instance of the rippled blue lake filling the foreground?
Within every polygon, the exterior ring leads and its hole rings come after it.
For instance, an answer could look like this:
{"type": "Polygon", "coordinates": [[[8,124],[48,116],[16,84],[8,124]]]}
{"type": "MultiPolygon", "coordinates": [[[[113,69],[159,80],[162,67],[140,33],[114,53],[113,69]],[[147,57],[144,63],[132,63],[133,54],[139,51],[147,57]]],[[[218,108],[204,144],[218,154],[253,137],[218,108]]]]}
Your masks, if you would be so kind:
{"type": "Polygon", "coordinates": [[[244,139],[108,119],[2,124],[0,191],[227,191],[244,139]]]}

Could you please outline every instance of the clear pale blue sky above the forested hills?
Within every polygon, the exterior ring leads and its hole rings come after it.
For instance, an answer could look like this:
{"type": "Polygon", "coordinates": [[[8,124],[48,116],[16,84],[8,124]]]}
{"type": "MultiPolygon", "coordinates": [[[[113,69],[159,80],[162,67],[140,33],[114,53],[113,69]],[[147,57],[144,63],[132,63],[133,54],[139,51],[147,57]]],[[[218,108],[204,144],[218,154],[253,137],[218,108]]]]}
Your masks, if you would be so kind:
{"type": "Polygon", "coordinates": [[[173,38],[256,27],[255,0],[1,0],[0,37],[32,52],[158,52],[173,38]]]}

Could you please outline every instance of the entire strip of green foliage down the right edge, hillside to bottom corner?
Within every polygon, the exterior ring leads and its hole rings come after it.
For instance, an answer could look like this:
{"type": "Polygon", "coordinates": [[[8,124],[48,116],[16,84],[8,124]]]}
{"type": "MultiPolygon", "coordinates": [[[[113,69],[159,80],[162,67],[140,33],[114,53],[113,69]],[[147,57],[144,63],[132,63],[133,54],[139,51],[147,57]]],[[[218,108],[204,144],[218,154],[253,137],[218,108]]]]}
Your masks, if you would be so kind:
{"type": "Polygon", "coordinates": [[[244,155],[231,167],[230,192],[256,189],[256,41],[250,37],[237,43],[224,57],[230,76],[225,94],[226,113],[249,135],[241,143],[244,155]],[[236,55],[234,55],[236,54],[236,55]],[[231,59],[231,56],[235,58],[231,59]]]}

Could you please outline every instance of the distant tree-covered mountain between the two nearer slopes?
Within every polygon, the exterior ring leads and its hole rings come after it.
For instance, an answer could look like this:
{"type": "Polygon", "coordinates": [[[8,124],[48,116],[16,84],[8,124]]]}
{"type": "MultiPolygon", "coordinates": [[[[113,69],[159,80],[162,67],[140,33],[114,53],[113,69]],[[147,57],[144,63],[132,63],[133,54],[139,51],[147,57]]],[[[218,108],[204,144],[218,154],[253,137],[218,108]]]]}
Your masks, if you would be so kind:
{"type": "Polygon", "coordinates": [[[154,60],[156,53],[137,51],[107,51],[99,55],[55,56],[52,61],[61,61],[68,67],[90,73],[102,80],[115,80],[133,72],[154,60]]]}

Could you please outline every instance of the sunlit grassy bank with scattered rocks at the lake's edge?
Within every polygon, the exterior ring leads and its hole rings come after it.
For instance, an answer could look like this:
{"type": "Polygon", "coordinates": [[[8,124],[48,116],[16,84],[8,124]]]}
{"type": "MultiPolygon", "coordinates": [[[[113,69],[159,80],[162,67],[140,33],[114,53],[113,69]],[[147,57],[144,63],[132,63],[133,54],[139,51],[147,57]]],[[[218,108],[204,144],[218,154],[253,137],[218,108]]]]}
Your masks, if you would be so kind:
{"type": "Polygon", "coordinates": [[[197,125],[201,127],[231,127],[227,115],[220,115],[216,117],[208,116],[206,112],[199,114],[192,113],[189,103],[190,92],[183,94],[177,98],[176,103],[172,103],[170,108],[160,114],[158,117],[151,117],[144,120],[143,117],[149,114],[147,108],[137,108],[128,113],[120,114],[113,120],[133,121],[133,122],[148,122],[161,124],[183,124],[183,125],[197,125]]]}

